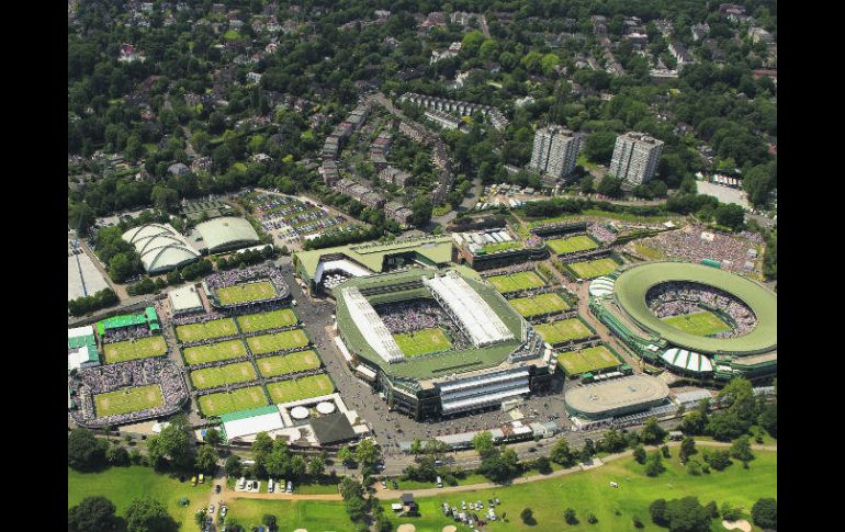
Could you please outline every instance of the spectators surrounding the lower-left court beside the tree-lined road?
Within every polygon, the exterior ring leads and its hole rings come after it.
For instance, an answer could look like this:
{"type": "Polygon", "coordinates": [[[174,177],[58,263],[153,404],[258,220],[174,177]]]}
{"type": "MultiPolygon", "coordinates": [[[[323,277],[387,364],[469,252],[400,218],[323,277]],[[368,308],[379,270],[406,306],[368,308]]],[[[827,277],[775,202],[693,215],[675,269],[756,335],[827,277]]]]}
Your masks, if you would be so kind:
{"type": "Polygon", "coordinates": [[[79,370],[68,382],[78,408],[71,410],[74,420],[83,427],[108,427],[143,421],[176,412],[188,398],[188,386],[180,370],[162,358],[133,360],[79,370]],[[155,408],[111,416],[98,416],[94,396],[158,384],[165,403],[155,408]]]}

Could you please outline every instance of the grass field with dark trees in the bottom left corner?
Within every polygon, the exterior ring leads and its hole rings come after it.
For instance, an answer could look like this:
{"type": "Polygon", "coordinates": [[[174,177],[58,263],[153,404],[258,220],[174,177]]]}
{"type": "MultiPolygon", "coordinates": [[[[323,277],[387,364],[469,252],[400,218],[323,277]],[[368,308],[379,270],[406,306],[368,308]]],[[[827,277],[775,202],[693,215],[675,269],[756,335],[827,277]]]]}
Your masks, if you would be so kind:
{"type": "Polygon", "coordinates": [[[150,467],[139,465],[110,467],[100,473],[79,473],[68,467],[67,486],[68,508],[77,506],[86,497],[102,495],[117,507],[117,516],[123,516],[135,498],[158,499],[168,514],[180,523],[181,532],[199,530],[193,514],[200,508],[207,508],[211,494],[209,483],[191,486],[190,476],[180,483],[178,477],[160,475],[150,467]],[[182,497],[188,498],[187,507],[179,506],[182,497]]]}

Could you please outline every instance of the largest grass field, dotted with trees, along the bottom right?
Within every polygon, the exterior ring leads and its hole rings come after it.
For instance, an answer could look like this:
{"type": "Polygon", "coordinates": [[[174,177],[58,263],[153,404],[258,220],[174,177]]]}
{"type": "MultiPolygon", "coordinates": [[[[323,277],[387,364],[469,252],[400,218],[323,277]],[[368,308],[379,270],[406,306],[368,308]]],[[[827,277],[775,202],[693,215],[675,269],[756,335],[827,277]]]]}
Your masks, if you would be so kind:
{"type": "MultiPolygon", "coordinates": [[[[747,516],[758,498],[777,498],[777,452],[754,451],[756,459],[750,463],[747,469],[743,469],[742,464],[735,462],[722,472],[713,471],[709,475],[699,476],[687,474],[684,466],[678,463],[677,452],[677,448],[672,449],[672,457],[663,461],[666,471],[657,477],[646,476],[643,472],[644,466],[631,457],[624,457],[594,469],[548,480],[444,494],[438,497],[415,497],[419,505],[419,518],[392,516],[390,503],[394,502],[393,500],[384,500],[382,505],[385,513],[391,516],[394,527],[412,523],[417,532],[441,532],[443,527],[455,524],[451,518],[443,517],[439,508],[442,502],[460,508],[462,500],[481,499],[486,506],[487,499],[493,497],[498,497],[502,501],[502,505],[496,507],[496,514],[506,516],[506,519],[488,523],[484,530],[489,532],[557,530],[665,532],[666,529],[654,524],[649,516],[649,505],[654,499],[696,496],[702,505],[711,500],[720,507],[723,502],[730,502],[732,506],[743,508],[747,516]],[[611,482],[618,483],[619,488],[611,488],[611,482]],[[533,511],[536,524],[528,525],[519,518],[519,513],[525,508],[533,511]],[[563,511],[566,508],[575,510],[578,524],[565,524],[563,511]],[[617,510],[619,516],[616,514],[617,510]],[[595,513],[598,522],[588,523],[587,512],[595,513]],[[634,516],[642,520],[645,525],[643,529],[633,527],[634,516]]],[[[700,454],[695,457],[700,460],[700,454]]],[[[746,517],[746,519],[751,521],[750,518],[746,517]]],[[[710,530],[724,532],[721,518],[712,521],[710,530]]],[[[754,529],[755,532],[760,530],[754,529]]]]}

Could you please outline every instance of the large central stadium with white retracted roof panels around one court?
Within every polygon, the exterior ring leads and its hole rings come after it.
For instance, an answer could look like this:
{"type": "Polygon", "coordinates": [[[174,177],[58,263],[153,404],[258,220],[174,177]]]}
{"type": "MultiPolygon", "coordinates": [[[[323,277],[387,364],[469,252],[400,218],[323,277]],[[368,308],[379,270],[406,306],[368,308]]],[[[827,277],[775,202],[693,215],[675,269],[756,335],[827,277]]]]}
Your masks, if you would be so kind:
{"type": "Polygon", "coordinates": [[[542,338],[459,269],[353,279],[334,294],[338,348],[392,409],[417,420],[496,408],[551,382],[542,338]]]}

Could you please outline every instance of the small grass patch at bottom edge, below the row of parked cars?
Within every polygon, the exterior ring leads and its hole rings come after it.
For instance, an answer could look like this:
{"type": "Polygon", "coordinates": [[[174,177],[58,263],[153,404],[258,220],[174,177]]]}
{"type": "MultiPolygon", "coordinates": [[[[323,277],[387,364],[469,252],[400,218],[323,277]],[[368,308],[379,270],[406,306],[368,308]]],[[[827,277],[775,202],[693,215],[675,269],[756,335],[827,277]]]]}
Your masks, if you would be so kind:
{"type": "MultiPolygon", "coordinates": [[[[334,487],[337,493],[337,488],[334,487]]],[[[227,499],[229,511],[226,519],[236,519],[252,530],[261,525],[261,518],[269,513],[275,516],[275,524],[280,531],[306,529],[308,532],[341,532],[354,530],[349,520],[342,501],[331,500],[260,500],[260,499],[227,499]]]]}

